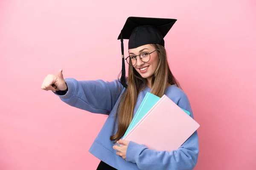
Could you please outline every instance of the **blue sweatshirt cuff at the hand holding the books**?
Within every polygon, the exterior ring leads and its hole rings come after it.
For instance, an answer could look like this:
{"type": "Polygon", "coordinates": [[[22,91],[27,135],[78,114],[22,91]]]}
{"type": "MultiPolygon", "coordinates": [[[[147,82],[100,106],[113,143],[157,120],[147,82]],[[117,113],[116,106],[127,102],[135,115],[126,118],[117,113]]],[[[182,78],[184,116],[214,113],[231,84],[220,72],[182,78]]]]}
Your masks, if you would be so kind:
{"type": "Polygon", "coordinates": [[[143,144],[137,144],[130,141],[126,150],[126,161],[136,163],[137,158],[141,152],[143,144]]]}

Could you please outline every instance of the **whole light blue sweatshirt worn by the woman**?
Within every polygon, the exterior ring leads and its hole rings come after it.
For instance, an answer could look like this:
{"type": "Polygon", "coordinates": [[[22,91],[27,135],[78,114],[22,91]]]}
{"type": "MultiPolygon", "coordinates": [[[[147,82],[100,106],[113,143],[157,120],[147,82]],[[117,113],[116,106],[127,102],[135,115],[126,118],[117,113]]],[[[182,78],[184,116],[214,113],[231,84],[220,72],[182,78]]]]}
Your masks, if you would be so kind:
{"type": "MultiPolygon", "coordinates": [[[[65,79],[68,91],[64,95],[54,93],[70,106],[108,115],[108,119],[91,145],[89,152],[118,170],[192,170],[198,160],[198,133],[192,134],[177,150],[157,151],[148,149],[143,144],[130,141],[127,147],[126,160],[116,155],[110,136],[116,133],[117,123],[114,121],[116,106],[125,88],[118,80],[78,81],[65,79]]],[[[145,94],[150,92],[146,87],[140,92],[134,109],[136,113],[145,94]]],[[[172,99],[180,108],[193,113],[186,94],[176,85],[166,89],[166,96],[172,99]]],[[[168,135],[168,134],[167,134],[168,135]]],[[[161,140],[161,139],[159,139],[161,140]]]]}

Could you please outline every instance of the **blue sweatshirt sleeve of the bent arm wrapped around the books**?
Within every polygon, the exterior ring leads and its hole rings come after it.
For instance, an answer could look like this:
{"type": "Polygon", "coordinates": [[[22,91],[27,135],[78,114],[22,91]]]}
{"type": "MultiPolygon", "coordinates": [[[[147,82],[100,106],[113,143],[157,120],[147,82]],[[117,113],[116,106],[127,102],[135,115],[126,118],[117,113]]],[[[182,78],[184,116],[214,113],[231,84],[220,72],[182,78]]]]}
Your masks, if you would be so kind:
{"type": "MultiPolygon", "coordinates": [[[[186,94],[182,94],[177,105],[189,111],[194,119],[186,94]]],[[[198,161],[198,153],[198,132],[195,131],[177,150],[172,151],[152,150],[130,141],[126,161],[136,163],[141,170],[192,170],[198,161]]]]}

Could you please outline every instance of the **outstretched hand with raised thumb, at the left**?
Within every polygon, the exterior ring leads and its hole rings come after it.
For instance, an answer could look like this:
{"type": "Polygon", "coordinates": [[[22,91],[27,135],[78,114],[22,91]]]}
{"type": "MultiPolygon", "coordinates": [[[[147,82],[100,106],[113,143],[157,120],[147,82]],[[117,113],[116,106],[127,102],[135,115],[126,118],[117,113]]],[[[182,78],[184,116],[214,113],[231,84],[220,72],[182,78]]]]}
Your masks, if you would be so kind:
{"type": "Polygon", "coordinates": [[[62,69],[58,71],[57,76],[48,74],[47,77],[44,78],[41,89],[45,91],[51,90],[53,92],[66,90],[67,85],[63,78],[62,69]]]}

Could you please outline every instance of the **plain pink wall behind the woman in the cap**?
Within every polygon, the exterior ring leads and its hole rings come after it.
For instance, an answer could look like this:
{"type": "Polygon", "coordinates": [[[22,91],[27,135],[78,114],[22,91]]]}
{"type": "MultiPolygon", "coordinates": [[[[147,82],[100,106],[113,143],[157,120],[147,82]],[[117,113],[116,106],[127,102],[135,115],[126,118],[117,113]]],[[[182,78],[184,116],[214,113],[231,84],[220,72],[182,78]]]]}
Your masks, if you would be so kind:
{"type": "Polygon", "coordinates": [[[141,16],[177,19],[166,49],[201,125],[195,170],[255,170],[255,9],[254,0],[0,1],[0,169],[96,169],[88,149],[107,117],[41,83],[60,68],[65,78],[116,79],[117,37],[141,16]]]}

